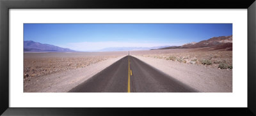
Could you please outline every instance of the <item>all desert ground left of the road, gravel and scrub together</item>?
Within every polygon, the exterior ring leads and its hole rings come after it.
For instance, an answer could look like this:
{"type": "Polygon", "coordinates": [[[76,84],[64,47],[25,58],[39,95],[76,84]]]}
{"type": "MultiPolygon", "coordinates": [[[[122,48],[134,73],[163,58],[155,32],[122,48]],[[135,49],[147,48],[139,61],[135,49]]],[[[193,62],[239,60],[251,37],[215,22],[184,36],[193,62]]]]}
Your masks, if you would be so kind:
{"type": "Polygon", "coordinates": [[[125,55],[127,52],[25,53],[24,92],[67,92],[125,55]]]}

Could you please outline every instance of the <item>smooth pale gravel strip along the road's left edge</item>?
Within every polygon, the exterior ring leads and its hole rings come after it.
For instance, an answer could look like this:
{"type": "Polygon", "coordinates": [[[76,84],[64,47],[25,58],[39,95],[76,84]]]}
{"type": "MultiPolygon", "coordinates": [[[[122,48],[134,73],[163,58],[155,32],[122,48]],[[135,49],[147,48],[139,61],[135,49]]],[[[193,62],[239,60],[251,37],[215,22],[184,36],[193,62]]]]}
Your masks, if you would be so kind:
{"type": "MultiPolygon", "coordinates": [[[[122,56],[124,57],[124,56],[122,56]]],[[[60,71],[24,81],[24,92],[67,92],[122,57],[109,58],[84,68],[60,71]]]]}

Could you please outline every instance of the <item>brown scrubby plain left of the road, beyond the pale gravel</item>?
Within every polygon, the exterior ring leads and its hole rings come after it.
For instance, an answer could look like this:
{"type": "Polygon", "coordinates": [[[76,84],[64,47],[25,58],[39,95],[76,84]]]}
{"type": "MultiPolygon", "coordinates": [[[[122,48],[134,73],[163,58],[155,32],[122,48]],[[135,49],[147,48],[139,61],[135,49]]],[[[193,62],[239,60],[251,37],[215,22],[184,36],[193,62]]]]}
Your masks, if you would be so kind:
{"type": "Polygon", "coordinates": [[[97,62],[127,54],[127,52],[24,53],[24,81],[61,71],[85,68],[97,62]]]}

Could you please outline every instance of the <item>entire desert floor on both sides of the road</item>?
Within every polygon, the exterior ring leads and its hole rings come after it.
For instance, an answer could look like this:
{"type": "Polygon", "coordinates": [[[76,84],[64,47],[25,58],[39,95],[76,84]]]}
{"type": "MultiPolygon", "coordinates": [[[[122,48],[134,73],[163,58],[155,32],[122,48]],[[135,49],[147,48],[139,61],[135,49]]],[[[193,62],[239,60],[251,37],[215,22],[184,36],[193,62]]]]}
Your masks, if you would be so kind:
{"type": "MultiPolygon", "coordinates": [[[[24,53],[24,92],[70,91],[126,55],[24,53]]],[[[131,51],[130,55],[198,92],[232,92],[232,51],[187,48],[131,51]]]]}

